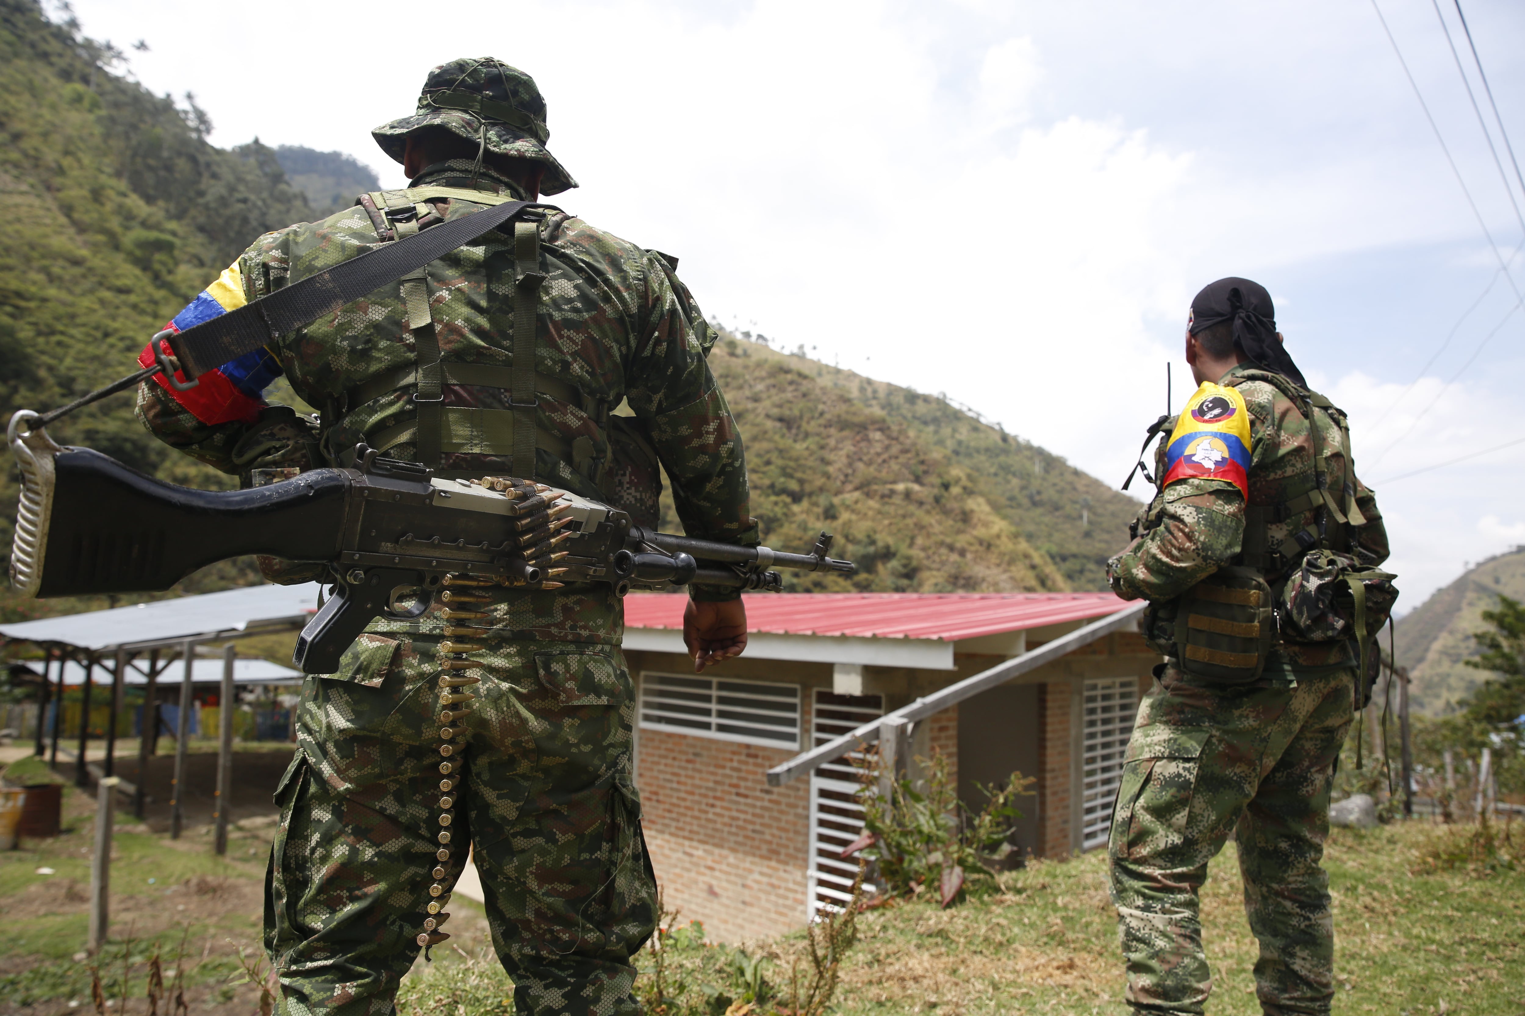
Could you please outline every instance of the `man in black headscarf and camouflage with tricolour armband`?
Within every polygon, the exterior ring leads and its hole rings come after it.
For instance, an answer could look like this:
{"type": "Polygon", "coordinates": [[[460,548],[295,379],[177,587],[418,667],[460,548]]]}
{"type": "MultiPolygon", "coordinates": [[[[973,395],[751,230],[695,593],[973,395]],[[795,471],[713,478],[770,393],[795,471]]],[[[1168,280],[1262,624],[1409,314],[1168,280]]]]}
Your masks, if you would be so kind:
{"type": "Polygon", "coordinates": [[[1145,448],[1165,436],[1157,489],[1107,567],[1118,596],[1150,602],[1144,634],[1167,658],[1128,742],[1109,844],[1127,1001],[1203,1011],[1197,893],[1234,833],[1261,1007],[1328,1013],[1319,862],[1339,749],[1371,690],[1369,643],[1397,597],[1377,568],[1388,536],[1345,414],[1308,390],[1264,288],[1222,279],[1199,292],[1186,361],[1200,388],[1150,428],[1145,448]]]}

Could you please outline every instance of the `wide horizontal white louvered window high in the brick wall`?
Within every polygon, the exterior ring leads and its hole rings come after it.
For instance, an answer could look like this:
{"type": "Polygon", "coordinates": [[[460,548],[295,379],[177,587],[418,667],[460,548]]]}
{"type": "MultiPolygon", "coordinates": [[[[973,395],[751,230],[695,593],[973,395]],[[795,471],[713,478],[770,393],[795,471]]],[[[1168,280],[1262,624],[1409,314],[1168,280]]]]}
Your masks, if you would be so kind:
{"type": "Polygon", "coordinates": [[[799,685],[645,670],[640,727],[798,751],[799,685]]]}

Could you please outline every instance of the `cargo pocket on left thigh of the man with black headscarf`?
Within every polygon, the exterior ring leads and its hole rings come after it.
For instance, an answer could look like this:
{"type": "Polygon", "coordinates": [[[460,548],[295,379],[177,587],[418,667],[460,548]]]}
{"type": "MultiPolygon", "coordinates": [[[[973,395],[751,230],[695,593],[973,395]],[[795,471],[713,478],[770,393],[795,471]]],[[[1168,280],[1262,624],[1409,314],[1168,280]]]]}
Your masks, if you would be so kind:
{"type": "Polygon", "coordinates": [[[1122,759],[1110,853],[1139,858],[1179,845],[1191,818],[1202,748],[1211,731],[1141,727],[1122,759]]]}

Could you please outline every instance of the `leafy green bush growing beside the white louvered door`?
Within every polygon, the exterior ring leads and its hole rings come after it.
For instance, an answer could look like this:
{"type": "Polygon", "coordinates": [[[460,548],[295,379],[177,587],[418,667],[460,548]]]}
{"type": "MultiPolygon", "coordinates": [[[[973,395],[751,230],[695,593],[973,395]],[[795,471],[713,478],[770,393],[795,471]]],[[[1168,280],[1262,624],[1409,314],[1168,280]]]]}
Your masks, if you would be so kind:
{"type": "Polygon", "coordinates": [[[1035,780],[1013,772],[1000,786],[974,784],[985,795],[978,812],[958,797],[942,752],[917,759],[926,780],[909,777],[891,784],[889,800],[878,792],[880,757],[862,752],[859,766],[865,833],[842,851],[872,862],[888,896],[918,896],[936,887],[942,906],[952,906],[971,874],[994,876],[1011,853],[1014,820],[1022,816],[1016,800],[1031,792],[1035,780]],[[917,788],[917,783],[921,788],[917,788]]]}

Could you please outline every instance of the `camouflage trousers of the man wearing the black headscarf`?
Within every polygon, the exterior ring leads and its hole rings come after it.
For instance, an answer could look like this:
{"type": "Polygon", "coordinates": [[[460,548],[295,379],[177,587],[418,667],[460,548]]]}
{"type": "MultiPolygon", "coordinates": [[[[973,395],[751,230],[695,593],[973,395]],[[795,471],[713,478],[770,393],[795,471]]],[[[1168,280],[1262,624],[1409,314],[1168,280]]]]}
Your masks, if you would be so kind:
{"type": "Polygon", "coordinates": [[[1330,1011],[1334,925],[1321,861],[1354,679],[1351,669],[1296,687],[1228,689],[1165,669],[1144,696],[1109,845],[1136,1011],[1203,1011],[1212,978],[1197,894],[1231,833],[1260,941],[1261,1008],[1330,1011]]]}

